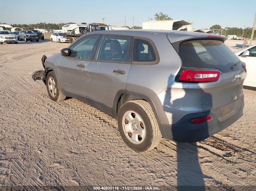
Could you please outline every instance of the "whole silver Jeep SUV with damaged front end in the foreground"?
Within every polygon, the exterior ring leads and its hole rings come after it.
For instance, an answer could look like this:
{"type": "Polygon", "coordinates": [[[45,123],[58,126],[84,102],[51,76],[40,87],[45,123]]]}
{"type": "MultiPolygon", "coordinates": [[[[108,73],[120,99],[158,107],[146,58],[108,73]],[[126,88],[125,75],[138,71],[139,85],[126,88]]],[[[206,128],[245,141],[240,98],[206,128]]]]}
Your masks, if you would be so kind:
{"type": "Polygon", "coordinates": [[[243,115],[246,66],[207,33],[111,30],[43,56],[49,97],[74,97],[118,120],[124,142],[148,151],[161,138],[196,142],[243,115]]]}

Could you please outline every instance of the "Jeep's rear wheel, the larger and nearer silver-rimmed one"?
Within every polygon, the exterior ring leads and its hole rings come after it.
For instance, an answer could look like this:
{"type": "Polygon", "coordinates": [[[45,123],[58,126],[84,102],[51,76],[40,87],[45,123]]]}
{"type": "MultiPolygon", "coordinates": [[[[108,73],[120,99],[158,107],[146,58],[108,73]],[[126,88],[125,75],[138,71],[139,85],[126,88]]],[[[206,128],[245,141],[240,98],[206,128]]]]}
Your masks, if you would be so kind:
{"type": "Polygon", "coordinates": [[[118,129],[125,144],[136,152],[155,148],[162,138],[153,110],[145,100],[128,101],[120,107],[118,129]]]}

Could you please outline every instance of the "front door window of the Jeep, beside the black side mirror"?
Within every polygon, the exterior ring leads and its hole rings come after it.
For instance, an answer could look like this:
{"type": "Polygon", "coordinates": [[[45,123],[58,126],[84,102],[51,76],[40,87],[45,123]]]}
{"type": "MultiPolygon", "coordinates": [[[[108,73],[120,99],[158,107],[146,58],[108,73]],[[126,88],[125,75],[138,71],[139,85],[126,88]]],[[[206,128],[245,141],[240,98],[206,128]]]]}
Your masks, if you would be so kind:
{"type": "Polygon", "coordinates": [[[89,60],[99,35],[85,37],[75,43],[70,49],[69,57],[89,60]]]}

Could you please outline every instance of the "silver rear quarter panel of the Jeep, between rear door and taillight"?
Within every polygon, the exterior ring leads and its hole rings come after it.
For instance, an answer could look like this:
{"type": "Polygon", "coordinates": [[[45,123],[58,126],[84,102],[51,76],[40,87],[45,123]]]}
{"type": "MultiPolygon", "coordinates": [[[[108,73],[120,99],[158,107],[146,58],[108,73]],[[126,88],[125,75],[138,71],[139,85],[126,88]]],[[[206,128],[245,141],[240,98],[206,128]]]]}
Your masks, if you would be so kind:
{"type": "Polygon", "coordinates": [[[157,64],[131,64],[126,90],[143,94],[153,100],[161,122],[167,121],[163,105],[156,97],[175,81],[181,59],[167,38],[166,33],[148,32],[143,36],[153,41],[159,55],[157,64]]]}

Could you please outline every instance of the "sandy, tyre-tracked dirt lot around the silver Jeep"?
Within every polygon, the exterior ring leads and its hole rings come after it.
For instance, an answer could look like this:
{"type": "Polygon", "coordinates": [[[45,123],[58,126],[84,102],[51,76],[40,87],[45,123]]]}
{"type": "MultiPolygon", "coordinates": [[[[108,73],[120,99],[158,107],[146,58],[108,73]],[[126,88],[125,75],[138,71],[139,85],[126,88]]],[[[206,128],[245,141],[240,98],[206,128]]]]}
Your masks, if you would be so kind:
{"type": "Polygon", "coordinates": [[[162,140],[138,154],[125,146],[115,119],[76,99],[55,103],[43,82],[32,80],[42,55],[68,45],[46,40],[0,46],[0,190],[255,190],[256,91],[244,90],[244,115],[218,134],[193,144],[162,140]]]}

